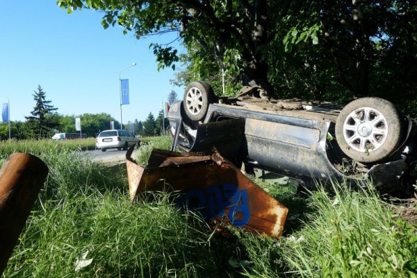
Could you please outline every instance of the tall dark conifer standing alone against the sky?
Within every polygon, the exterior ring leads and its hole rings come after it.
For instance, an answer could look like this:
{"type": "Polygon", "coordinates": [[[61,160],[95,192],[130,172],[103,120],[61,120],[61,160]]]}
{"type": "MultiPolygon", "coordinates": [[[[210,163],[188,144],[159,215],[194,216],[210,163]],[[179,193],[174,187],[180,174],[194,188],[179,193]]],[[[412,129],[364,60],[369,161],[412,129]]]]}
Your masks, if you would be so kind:
{"type": "Polygon", "coordinates": [[[50,105],[51,101],[46,100],[46,92],[38,85],[38,89],[34,91],[33,99],[35,100],[35,107],[31,112],[31,116],[25,116],[28,121],[28,127],[32,130],[34,137],[47,137],[48,133],[59,126],[56,116],[58,108],[50,105]]]}

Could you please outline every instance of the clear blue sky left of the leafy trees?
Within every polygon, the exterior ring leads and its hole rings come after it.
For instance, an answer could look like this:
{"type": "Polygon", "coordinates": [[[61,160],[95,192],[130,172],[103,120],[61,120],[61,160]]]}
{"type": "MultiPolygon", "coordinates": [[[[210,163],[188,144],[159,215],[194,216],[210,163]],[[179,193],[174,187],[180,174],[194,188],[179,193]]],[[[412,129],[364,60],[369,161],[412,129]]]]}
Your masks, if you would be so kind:
{"type": "MultiPolygon", "coordinates": [[[[172,69],[157,71],[149,43],[172,42],[177,34],[136,40],[122,27],[101,26],[100,12],[71,15],[54,0],[0,0],[0,103],[10,100],[10,120],[24,121],[40,85],[58,113],[106,112],[120,121],[119,73],[129,79],[130,105],[123,122],[155,116],[173,89],[172,69]]],[[[81,119],[82,121],[82,119],[81,119]]]]}

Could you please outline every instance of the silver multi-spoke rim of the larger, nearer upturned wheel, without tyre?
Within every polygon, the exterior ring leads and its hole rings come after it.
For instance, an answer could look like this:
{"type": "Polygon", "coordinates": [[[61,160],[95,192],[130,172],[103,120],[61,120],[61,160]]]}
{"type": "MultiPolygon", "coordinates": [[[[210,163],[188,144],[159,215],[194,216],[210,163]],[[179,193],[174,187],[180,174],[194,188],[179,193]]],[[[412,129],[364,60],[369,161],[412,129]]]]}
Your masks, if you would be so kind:
{"type": "Polygon", "coordinates": [[[361,107],[351,112],[343,123],[346,143],[361,153],[380,148],[388,137],[388,124],[384,115],[371,107],[361,107]]]}

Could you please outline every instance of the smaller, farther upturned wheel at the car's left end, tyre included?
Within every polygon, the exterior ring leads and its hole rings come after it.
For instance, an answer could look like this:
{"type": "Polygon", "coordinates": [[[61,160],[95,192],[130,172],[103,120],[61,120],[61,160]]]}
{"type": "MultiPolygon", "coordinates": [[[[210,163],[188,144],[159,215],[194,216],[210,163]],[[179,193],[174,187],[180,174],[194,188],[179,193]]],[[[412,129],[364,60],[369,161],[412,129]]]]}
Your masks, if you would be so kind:
{"type": "Polygon", "coordinates": [[[188,118],[201,121],[206,116],[208,105],[215,102],[213,88],[204,81],[191,82],[184,92],[183,106],[188,118]]]}

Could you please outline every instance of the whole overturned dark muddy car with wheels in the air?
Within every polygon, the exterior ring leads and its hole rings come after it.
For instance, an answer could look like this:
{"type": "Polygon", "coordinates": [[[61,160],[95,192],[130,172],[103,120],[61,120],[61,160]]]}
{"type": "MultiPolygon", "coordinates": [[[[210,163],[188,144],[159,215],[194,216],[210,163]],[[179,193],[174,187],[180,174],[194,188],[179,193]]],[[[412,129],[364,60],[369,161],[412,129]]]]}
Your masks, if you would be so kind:
{"type": "Polygon", "coordinates": [[[213,148],[246,170],[260,168],[309,185],[330,180],[387,191],[416,182],[416,123],[389,101],[358,98],[345,107],[265,97],[243,87],[217,97],[204,81],[191,82],[168,114],[172,150],[213,148]]]}

